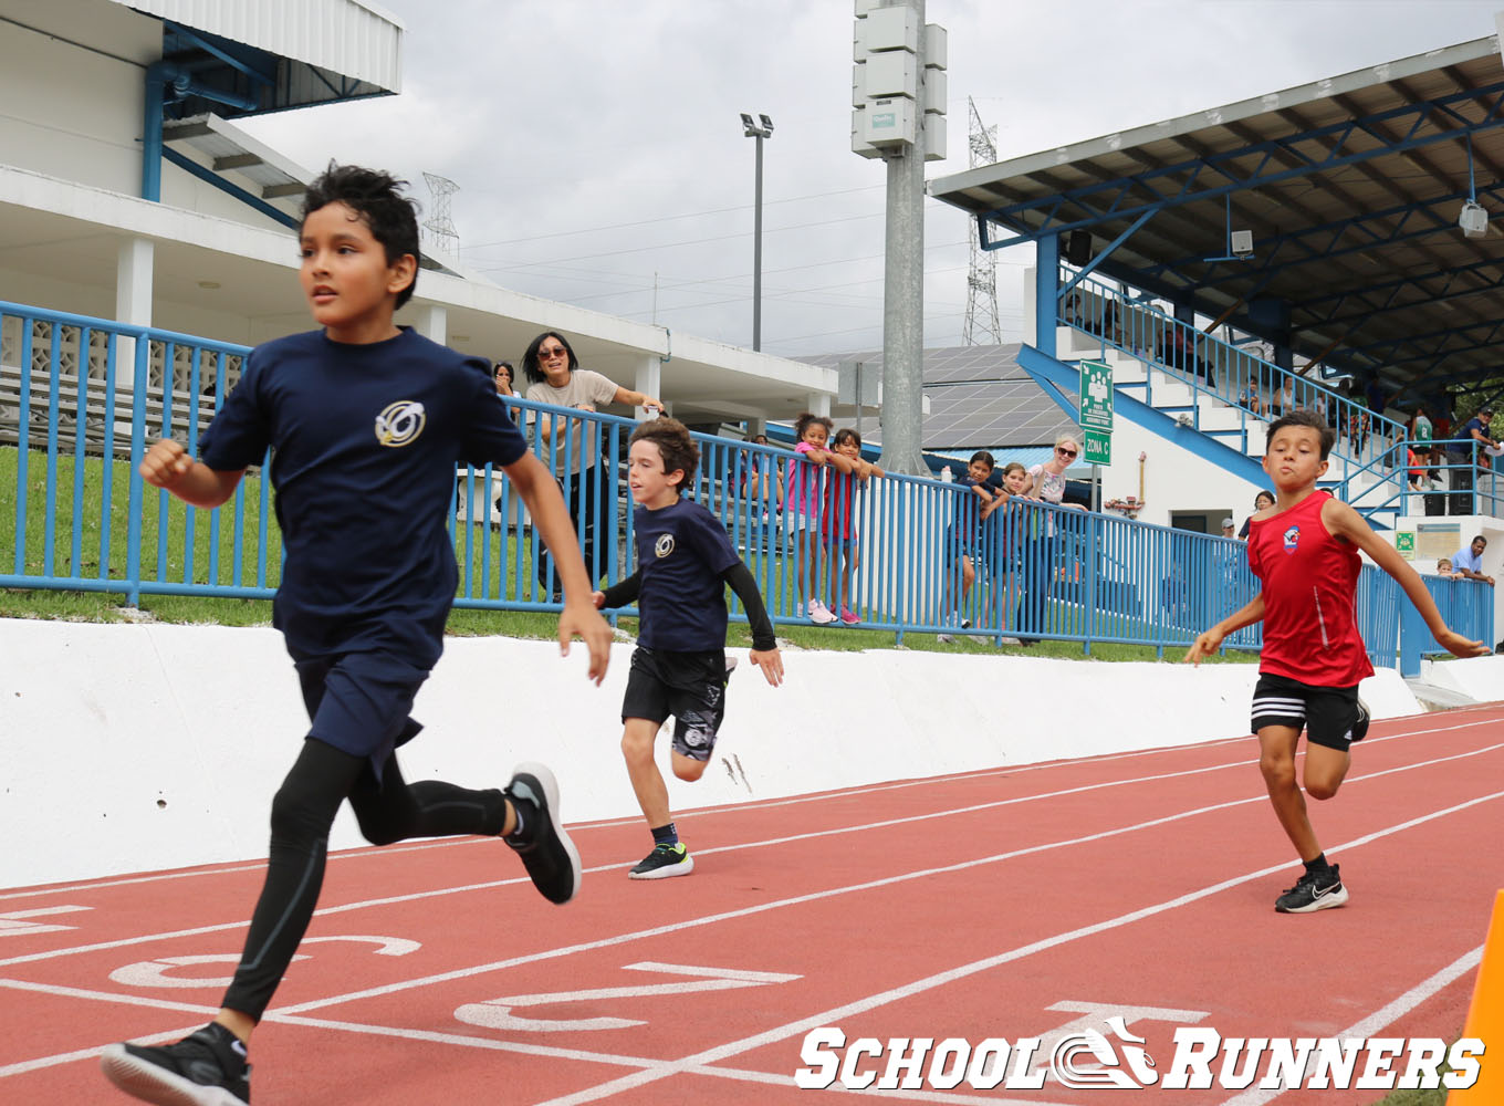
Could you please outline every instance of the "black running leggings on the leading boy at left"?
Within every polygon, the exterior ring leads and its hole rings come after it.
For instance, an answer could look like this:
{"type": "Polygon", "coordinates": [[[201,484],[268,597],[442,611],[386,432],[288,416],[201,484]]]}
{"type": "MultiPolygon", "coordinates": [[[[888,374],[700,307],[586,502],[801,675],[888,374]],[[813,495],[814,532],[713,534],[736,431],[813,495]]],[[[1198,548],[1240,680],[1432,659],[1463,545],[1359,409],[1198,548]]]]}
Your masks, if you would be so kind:
{"type": "Polygon", "coordinates": [[[468,792],[436,779],[405,784],[396,754],[387,758],[378,782],[367,757],[308,737],[272,799],[266,882],[251,915],[245,954],[224,995],[229,1010],[262,1020],[313,918],[329,853],[329,826],[344,799],[371,844],[409,837],[496,835],[507,819],[507,801],[498,790],[468,792]]]}

